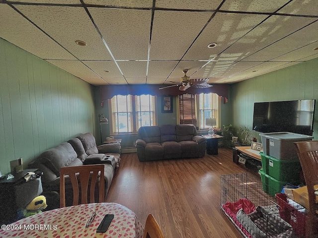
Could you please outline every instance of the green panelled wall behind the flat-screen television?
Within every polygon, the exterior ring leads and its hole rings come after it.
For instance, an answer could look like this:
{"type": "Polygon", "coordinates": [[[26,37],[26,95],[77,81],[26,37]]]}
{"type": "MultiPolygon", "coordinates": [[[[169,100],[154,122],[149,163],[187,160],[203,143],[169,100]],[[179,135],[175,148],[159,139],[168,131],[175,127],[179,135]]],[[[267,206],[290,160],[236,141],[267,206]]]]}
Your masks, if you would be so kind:
{"type": "MultiPolygon", "coordinates": [[[[263,74],[230,87],[234,126],[252,129],[254,102],[316,99],[315,139],[318,139],[318,59],[263,74]]],[[[259,133],[253,133],[260,141],[259,133]]]]}

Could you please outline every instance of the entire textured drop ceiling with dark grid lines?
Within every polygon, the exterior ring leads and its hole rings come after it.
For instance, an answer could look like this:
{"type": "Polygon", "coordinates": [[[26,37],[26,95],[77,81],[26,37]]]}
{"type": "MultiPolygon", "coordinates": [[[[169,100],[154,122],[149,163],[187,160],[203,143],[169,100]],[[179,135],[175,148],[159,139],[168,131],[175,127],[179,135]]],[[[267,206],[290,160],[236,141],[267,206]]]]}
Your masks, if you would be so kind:
{"type": "Polygon", "coordinates": [[[235,83],[318,58],[317,9],[318,0],[0,0],[0,38],[96,86],[175,84],[185,68],[235,83]]]}

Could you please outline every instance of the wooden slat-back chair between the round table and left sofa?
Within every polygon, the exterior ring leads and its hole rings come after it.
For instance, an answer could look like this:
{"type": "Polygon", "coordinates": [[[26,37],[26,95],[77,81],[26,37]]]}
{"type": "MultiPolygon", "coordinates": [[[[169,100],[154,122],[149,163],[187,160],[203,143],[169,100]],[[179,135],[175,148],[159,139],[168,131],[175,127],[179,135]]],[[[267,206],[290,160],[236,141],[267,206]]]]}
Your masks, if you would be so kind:
{"type": "Polygon", "coordinates": [[[65,207],[65,176],[68,175],[73,187],[73,205],[95,202],[95,186],[99,179],[98,202],[104,202],[104,165],[69,166],[60,169],[60,207],[65,207]],[[89,188],[88,188],[89,187],[89,188]],[[89,189],[89,190],[88,190],[89,189]],[[89,191],[89,200],[88,198],[89,191]]]}

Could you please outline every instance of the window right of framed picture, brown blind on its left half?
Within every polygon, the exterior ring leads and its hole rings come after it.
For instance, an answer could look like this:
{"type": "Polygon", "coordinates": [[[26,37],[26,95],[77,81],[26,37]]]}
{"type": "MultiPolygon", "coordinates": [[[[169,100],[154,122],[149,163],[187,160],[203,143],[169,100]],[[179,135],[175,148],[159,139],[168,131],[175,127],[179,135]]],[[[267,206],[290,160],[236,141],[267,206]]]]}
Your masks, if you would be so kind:
{"type": "Polygon", "coordinates": [[[216,118],[219,121],[220,97],[216,93],[183,94],[178,99],[180,124],[194,124],[199,129],[207,129],[210,126],[205,124],[206,118],[216,118]]]}

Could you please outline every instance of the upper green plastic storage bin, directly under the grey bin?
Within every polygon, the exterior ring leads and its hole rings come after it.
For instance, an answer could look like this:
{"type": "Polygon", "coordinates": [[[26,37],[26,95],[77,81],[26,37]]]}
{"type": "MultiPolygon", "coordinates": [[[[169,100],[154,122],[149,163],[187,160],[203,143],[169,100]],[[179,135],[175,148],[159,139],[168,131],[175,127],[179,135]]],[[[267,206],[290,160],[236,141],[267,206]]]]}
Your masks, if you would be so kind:
{"type": "Polygon", "coordinates": [[[302,166],[299,160],[280,160],[272,156],[259,153],[262,159],[263,173],[278,181],[288,181],[294,185],[300,182],[302,166]]]}

